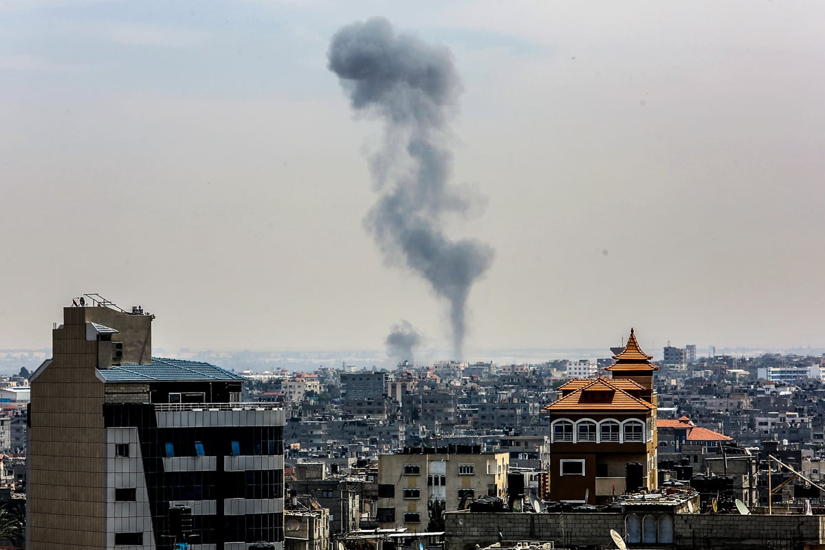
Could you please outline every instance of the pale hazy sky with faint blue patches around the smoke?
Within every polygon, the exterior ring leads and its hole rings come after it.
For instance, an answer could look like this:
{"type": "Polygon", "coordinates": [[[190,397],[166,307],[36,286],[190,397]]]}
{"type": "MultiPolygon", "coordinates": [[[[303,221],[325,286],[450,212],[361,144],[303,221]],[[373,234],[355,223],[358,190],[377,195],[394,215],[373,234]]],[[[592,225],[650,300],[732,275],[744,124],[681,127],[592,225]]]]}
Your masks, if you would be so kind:
{"type": "Polygon", "coordinates": [[[386,16],[451,49],[450,237],[495,248],[466,355],[825,346],[823,2],[0,0],[0,348],[73,296],[167,348],[384,346],[448,307],[364,219],[378,120],[327,50],[386,16]],[[654,349],[655,348],[655,349],[654,349]]]}

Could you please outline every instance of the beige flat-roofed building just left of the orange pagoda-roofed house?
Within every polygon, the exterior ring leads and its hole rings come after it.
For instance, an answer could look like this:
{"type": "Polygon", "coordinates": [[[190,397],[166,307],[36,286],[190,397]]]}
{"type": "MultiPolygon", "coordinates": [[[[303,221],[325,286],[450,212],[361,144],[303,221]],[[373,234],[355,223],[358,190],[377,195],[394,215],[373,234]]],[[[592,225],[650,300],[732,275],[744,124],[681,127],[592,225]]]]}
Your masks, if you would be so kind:
{"type": "Polygon", "coordinates": [[[501,496],[507,490],[508,453],[437,453],[408,448],[403,454],[378,457],[378,521],[382,529],[405,527],[425,531],[427,511],[434,501],[444,510],[480,496],[501,496]]]}

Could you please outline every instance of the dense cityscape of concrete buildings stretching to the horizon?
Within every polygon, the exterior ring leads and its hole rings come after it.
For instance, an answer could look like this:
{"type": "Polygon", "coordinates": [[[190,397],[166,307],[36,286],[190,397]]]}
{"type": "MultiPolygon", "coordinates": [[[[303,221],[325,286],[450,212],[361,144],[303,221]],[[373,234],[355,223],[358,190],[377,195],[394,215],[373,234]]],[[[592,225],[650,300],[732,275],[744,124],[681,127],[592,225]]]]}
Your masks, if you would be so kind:
{"type": "MultiPolygon", "coordinates": [[[[152,318],[77,303],[50,360],[0,379],[0,509],[28,498],[27,548],[463,550],[460,521],[494,542],[472,514],[529,540],[592,545],[558,525],[597,520],[679,550],[686,516],[724,519],[714,506],[818,513],[823,357],[668,346],[657,365],[631,330],[600,359],[236,374],[152,357],[152,318]],[[539,509],[563,518],[539,534],[539,509]]],[[[820,537],[794,525],[763,529],[784,548],[820,537]]]]}

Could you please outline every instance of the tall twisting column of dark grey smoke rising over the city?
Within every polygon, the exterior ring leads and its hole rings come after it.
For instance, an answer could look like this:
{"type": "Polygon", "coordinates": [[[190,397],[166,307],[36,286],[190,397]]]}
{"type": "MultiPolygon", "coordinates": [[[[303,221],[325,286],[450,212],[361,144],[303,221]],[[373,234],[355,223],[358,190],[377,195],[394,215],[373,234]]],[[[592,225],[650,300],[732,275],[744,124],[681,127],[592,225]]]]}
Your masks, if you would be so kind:
{"type": "Polygon", "coordinates": [[[446,214],[469,209],[469,199],[447,182],[447,120],[460,92],[450,50],[395,34],[389,21],[375,17],[337,31],[328,57],[352,108],[384,120],[384,144],[370,159],[380,197],[366,223],[387,261],[422,275],[450,302],[461,359],[469,290],[490,266],[493,248],[451,241],[443,232],[446,214]]]}

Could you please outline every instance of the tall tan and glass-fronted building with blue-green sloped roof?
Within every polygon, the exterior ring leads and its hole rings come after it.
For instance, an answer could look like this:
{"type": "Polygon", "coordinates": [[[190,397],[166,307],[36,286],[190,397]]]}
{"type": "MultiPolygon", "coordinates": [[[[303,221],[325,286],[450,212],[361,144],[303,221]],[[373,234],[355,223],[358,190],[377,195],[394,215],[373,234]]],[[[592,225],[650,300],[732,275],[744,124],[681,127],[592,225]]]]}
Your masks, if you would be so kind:
{"type": "Polygon", "coordinates": [[[282,550],[281,405],[240,402],[244,378],[212,364],[153,358],[154,316],[90,301],[64,308],[31,376],[27,548],[282,550]]]}

